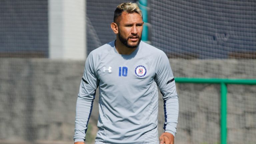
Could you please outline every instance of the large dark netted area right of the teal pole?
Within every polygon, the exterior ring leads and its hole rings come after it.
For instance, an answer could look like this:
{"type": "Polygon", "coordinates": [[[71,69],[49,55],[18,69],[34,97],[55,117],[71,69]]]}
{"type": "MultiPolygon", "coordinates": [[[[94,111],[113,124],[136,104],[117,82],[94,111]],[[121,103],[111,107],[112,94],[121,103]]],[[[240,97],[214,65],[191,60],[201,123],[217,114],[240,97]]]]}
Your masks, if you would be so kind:
{"type": "Polygon", "coordinates": [[[151,42],[170,58],[256,58],[256,2],[150,0],[151,42]]]}

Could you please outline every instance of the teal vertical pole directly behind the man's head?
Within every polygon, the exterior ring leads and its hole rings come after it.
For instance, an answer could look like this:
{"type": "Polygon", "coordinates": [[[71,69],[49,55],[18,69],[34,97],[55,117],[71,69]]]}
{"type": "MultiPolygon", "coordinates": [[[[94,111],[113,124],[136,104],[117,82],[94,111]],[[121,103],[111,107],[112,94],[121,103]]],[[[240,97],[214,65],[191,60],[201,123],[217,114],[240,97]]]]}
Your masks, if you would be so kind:
{"type": "Polygon", "coordinates": [[[142,17],[143,17],[143,31],[142,31],[142,41],[147,42],[148,41],[148,1],[147,0],[139,0],[139,7],[142,12],[142,17]]]}

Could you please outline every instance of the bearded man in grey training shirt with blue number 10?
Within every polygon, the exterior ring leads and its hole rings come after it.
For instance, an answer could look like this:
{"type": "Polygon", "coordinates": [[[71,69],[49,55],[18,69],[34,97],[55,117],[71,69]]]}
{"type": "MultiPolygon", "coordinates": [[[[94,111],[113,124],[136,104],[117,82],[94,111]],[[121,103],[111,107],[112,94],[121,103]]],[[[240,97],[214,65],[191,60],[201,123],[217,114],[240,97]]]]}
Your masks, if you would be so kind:
{"type": "Polygon", "coordinates": [[[84,144],[97,87],[95,144],[173,144],[178,95],[167,56],[141,42],[143,21],[137,4],[117,6],[111,28],[116,40],[92,51],[85,63],[76,106],[75,144],[84,144]],[[159,139],[157,86],[165,111],[165,132],[159,139]]]}

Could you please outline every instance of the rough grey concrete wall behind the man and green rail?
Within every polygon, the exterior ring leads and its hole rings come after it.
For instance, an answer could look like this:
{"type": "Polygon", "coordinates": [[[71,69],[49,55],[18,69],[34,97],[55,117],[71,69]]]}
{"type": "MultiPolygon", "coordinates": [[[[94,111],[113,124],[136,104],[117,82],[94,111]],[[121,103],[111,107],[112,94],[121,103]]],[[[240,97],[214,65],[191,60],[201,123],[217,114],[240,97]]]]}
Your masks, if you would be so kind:
{"type": "MultiPolygon", "coordinates": [[[[0,144],[73,143],[75,103],[84,61],[0,62],[0,144]]],[[[171,59],[170,64],[175,77],[256,78],[255,60],[171,59]],[[243,69],[244,65],[250,66],[249,70],[243,69]]],[[[219,85],[177,83],[177,91],[180,113],[175,143],[219,143],[219,85]]],[[[255,93],[255,85],[228,85],[228,143],[256,143],[255,93]]],[[[159,95],[161,133],[164,116],[159,95]]],[[[98,93],[87,144],[93,142],[97,131],[97,102],[98,93]]]]}

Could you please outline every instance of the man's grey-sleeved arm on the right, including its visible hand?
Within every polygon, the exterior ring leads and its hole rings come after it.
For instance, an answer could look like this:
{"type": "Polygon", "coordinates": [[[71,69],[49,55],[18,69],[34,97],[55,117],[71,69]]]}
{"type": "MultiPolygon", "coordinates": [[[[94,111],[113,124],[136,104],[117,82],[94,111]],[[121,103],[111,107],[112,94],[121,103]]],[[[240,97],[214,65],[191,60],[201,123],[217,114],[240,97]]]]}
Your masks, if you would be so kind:
{"type": "Polygon", "coordinates": [[[178,123],[179,101],[173,72],[167,56],[162,53],[158,59],[156,82],[164,100],[164,133],[159,137],[160,144],[174,144],[178,123]]]}

